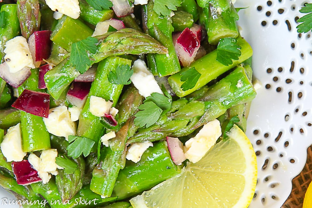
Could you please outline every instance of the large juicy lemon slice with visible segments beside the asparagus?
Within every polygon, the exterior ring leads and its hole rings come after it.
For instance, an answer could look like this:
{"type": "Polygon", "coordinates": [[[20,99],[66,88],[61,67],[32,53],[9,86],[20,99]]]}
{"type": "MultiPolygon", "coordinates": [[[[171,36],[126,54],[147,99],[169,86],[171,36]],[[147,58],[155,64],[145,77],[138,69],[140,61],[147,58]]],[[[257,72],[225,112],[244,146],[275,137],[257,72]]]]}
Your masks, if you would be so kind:
{"type": "Polygon", "coordinates": [[[181,174],[130,200],[146,207],[248,207],[257,182],[256,155],[249,139],[234,126],[229,138],[214,145],[181,174]]]}

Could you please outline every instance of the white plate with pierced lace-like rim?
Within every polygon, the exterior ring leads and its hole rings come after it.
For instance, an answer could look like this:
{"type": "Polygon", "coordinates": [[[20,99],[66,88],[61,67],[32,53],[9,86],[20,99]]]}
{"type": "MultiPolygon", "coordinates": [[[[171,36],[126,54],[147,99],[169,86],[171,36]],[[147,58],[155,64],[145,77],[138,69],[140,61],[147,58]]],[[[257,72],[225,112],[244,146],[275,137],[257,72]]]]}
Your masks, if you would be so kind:
{"type": "MultiPolygon", "coordinates": [[[[254,50],[254,77],[262,83],[252,102],[247,126],[247,136],[258,155],[258,183],[250,208],[282,206],[292,189],[292,178],[305,165],[306,149],[312,143],[312,39],[310,32],[299,36],[295,28],[304,2],[307,1],[235,3],[235,7],[248,7],[239,12],[239,25],[254,50]]],[[[0,189],[0,200],[4,198],[14,199],[0,189]]],[[[0,207],[19,206],[2,206],[0,201],[0,207]]]]}

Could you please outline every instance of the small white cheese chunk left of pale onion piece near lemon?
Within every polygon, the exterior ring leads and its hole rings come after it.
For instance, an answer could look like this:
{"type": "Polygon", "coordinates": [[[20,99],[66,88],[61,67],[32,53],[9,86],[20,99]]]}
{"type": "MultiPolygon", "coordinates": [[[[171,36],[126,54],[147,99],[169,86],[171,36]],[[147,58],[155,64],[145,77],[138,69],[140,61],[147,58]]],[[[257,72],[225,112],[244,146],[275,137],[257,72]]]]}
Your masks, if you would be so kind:
{"type": "Polygon", "coordinates": [[[149,147],[153,147],[153,143],[151,142],[140,142],[132,144],[128,150],[126,158],[127,160],[131,160],[132,162],[139,162],[145,150],[149,147]]]}

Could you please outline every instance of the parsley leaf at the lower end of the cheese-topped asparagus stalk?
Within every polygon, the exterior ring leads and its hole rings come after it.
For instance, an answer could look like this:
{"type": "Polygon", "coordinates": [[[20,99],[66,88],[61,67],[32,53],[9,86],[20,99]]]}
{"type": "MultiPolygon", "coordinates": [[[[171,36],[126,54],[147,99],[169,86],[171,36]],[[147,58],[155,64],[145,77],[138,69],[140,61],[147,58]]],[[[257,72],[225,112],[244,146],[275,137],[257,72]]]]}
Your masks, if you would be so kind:
{"type": "MultiPolygon", "coordinates": [[[[77,157],[79,157],[82,153],[85,157],[87,157],[90,152],[91,149],[93,147],[93,145],[95,144],[95,141],[85,138],[85,137],[78,137],[75,136],[76,139],[73,143],[71,143],[70,145],[68,145],[67,147],[67,155],[69,157],[73,157],[74,159],[76,159],[77,157]]],[[[71,138],[71,140],[68,138],[68,141],[73,141],[73,139],[71,138]]]]}

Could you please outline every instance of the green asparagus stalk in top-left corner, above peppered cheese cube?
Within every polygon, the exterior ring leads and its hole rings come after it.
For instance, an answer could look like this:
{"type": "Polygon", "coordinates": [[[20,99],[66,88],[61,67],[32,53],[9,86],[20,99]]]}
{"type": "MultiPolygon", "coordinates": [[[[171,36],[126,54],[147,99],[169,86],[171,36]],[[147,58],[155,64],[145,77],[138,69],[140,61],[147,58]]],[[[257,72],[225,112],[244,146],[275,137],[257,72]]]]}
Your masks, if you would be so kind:
{"type": "MultiPolygon", "coordinates": [[[[17,17],[16,4],[5,4],[1,6],[1,12],[4,12],[4,26],[0,27],[0,59],[3,62],[4,57],[4,45],[10,39],[18,36],[21,32],[19,20],[17,17]]],[[[1,79],[2,80],[2,79],[1,79]]]]}

